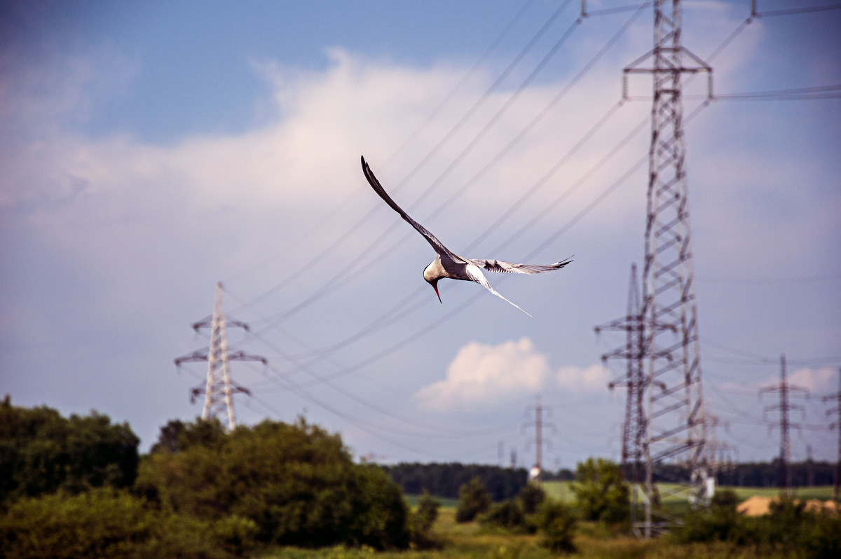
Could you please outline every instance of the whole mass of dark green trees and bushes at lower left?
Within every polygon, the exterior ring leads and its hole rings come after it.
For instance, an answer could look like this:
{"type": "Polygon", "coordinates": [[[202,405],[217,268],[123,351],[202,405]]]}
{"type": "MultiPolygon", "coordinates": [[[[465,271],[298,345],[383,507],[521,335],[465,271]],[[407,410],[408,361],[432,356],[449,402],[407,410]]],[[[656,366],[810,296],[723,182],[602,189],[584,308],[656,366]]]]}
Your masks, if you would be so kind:
{"type": "Polygon", "coordinates": [[[150,454],[138,443],[102,414],[0,402],[0,555],[227,559],[428,541],[397,484],[303,419],[230,433],[171,421],[150,454]]]}

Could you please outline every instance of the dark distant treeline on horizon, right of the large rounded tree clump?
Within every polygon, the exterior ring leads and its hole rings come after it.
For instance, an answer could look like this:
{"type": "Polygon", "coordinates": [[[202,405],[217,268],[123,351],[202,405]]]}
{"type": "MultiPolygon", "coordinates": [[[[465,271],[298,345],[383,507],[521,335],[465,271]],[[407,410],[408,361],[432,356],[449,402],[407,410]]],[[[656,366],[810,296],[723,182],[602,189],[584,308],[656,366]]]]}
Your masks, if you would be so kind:
{"type": "Polygon", "coordinates": [[[409,495],[426,491],[436,497],[458,498],[459,488],[475,478],[487,489],[490,498],[499,502],[516,497],[528,483],[528,472],[524,468],[483,464],[413,462],[383,466],[383,470],[409,495]]]}

